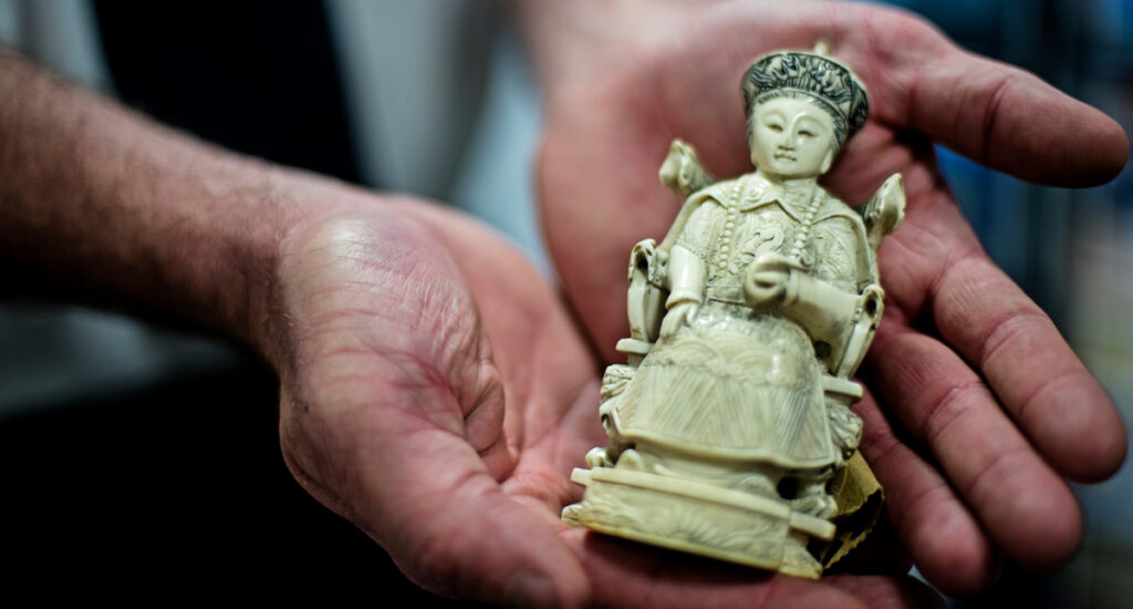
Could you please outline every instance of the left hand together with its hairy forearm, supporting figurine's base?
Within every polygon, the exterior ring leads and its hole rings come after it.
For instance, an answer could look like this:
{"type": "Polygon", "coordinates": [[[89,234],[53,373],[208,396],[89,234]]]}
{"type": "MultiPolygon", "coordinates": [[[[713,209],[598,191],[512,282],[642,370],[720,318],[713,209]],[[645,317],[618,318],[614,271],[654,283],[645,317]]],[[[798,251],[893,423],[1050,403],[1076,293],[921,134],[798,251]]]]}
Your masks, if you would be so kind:
{"type": "Polygon", "coordinates": [[[0,257],[257,348],[296,477],[414,581],[522,607],[923,606],[909,580],[813,584],[563,524],[571,467],[605,442],[597,364],[468,219],[225,153],[10,53],[0,88],[19,161],[0,167],[0,257]]]}

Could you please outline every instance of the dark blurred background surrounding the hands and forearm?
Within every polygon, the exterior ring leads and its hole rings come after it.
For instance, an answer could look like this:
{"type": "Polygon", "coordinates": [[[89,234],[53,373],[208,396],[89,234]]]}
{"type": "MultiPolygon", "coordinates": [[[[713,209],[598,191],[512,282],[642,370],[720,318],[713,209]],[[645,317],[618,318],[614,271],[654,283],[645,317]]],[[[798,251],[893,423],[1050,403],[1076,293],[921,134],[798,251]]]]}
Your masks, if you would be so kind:
{"type": "MultiPolygon", "coordinates": [[[[896,3],[1133,125],[1133,0],[896,3]]],[[[538,99],[486,0],[0,0],[0,41],[228,147],[452,202],[548,269],[529,179],[538,99]]],[[[1130,171],[1068,191],[939,157],[989,254],[1128,421],[1130,171]]],[[[290,479],[275,400],[272,373],[237,348],[0,287],[0,552],[17,561],[0,582],[86,585],[45,598],[415,594],[290,479]]],[[[1070,566],[1008,565],[995,591],[953,604],[1130,606],[1133,474],[1075,490],[1088,536],[1070,566]]]]}

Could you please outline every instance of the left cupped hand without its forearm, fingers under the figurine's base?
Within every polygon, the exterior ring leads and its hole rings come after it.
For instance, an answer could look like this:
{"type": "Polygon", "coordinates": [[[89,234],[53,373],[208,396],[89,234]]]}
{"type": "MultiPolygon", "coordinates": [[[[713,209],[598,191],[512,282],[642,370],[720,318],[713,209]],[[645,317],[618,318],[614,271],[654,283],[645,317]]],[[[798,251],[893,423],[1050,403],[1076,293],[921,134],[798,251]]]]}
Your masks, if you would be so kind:
{"type": "Polygon", "coordinates": [[[605,445],[598,370],[553,289],[452,211],[341,186],[283,240],[264,350],[286,460],[436,593],[517,607],[917,607],[906,578],[813,583],[559,518],[605,445]]]}

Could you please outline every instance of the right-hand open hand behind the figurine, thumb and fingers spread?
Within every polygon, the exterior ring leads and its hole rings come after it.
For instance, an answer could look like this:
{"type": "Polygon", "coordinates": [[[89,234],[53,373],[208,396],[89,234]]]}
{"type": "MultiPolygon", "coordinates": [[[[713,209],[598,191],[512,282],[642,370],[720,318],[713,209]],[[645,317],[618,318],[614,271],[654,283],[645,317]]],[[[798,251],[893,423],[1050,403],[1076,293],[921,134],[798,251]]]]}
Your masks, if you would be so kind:
{"type": "MultiPolygon", "coordinates": [[[[552,257],[605,360],[627,336],[619,261],[637,240],[664,235],[680,205],[656,178],[672,138],[692,143],[714,175],[750,171],[740,75],[758,54],[825,39],[871,102],[826,186],[858,204],[900,171],[909,201],[879,254],[888,302],[858,406],[888,519],[921,573],[948,592],[989,585],[1000,552],[1036,568],[1066,560],[1082,517],[1065,480],[1110,475],[1124,429],[1050,320],[985,254],[931,141],[1024,179],[1084,186],[1124,166],[1122,129],[889,9],[619,2],[586,19],[576,27],[583,48],[543,61],[538,175],[552,257]]],[[[565,19],[554,26],[571,32],[565,19]]]]}

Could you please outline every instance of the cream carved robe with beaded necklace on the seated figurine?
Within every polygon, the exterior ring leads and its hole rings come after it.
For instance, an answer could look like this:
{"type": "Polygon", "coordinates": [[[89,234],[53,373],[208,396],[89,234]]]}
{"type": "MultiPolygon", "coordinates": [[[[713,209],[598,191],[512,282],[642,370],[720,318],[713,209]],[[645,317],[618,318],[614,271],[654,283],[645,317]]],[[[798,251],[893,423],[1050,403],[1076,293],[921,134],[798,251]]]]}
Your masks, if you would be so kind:
{"type": "Polygon", "coordinates": [[[702,304],[645,357],[611,423],[631,442],[692,456],[792,470],[832,465],[837,448],[823,377],[836,356],[776,310],[744,304],[742,277],[758,256],[777,253],[860,294],[877,282],[861,217],[813,180],[776,187],[755,175],[704,188],[687,209],[674,225],[676,245],[705,264],[702,304]]]}

